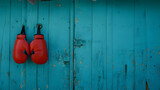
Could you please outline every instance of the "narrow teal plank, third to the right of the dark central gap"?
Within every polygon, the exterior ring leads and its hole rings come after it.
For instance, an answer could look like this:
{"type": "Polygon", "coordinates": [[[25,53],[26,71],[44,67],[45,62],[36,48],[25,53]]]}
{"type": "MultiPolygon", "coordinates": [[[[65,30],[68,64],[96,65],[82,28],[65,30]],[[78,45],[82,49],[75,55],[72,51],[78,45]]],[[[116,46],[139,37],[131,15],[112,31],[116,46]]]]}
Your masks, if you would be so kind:
{"type": "Polygon", "coordinates": [[[113,0],[107,0],[107,90],[113,90],[113,0]]]}

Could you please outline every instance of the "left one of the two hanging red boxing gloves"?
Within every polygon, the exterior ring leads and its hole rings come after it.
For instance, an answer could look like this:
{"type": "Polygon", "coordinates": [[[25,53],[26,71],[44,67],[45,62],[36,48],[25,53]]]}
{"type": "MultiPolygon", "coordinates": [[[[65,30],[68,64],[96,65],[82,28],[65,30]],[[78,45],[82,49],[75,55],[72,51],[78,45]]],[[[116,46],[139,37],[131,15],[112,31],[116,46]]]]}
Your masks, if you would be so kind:
{"type": "Polygon", "coordinates": [[[27,61],[27,55],[29,55],[29,44],[25,38],[25,27],[23,26],[21,34],[17,35],[13,50],[13,59],[19,64],[25,63],[27,61]]]}

